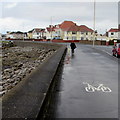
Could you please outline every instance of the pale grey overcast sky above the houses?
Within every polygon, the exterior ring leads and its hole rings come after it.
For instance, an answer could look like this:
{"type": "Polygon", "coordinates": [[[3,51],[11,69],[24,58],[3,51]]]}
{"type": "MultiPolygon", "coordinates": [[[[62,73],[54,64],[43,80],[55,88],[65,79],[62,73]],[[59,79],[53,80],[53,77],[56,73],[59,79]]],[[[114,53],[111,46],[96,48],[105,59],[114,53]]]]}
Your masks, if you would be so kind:
{"type": "MultiPolygon", "coordinates": [[[[68,20],[77,25],[93,28],[93,2],[13,1],[6,0],[0,3],[0,32],[2,33],[45,28],[51,24],[51,17],[53,25],[68,20]]],[[[96,30],[105,33],[106,30],[117,27],[118,3],[96,2],[96,30]]]]}

